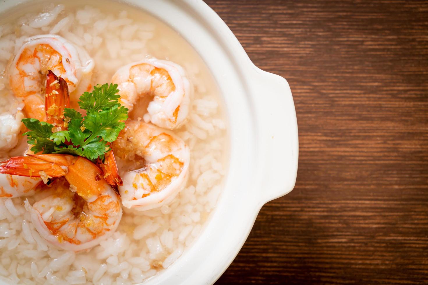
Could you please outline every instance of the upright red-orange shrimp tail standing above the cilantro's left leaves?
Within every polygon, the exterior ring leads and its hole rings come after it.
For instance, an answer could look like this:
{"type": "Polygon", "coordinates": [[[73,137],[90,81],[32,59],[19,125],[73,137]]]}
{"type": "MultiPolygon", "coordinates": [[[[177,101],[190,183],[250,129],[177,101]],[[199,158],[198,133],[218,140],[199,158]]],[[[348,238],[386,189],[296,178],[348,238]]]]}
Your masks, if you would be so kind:
{"type": "Polygon", "coordinates": [[[46,122],[65,130],[63,121],[65,108],[70,108],[67,82],[52,71],[48,71],[45,97],[46,122]]]}

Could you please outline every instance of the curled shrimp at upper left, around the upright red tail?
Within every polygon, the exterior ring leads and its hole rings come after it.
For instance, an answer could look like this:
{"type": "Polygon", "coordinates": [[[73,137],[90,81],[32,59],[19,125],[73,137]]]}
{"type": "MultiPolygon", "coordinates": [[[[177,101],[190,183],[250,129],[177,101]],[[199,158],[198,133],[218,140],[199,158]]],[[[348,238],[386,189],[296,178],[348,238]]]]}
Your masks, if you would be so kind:
{"type": "MultiPolygon", "coordinates": [[[[90,88],[93,60],[87,53],[58,35],[36,35],[27,39],[9,66],[9,84],[16,97],[23,98],[27,117],[44,120],[43,90],[48,70],[62,77],[68,91],[90,88]]],[[[80,93],[79,93],[80,92],[80,93]]]]}

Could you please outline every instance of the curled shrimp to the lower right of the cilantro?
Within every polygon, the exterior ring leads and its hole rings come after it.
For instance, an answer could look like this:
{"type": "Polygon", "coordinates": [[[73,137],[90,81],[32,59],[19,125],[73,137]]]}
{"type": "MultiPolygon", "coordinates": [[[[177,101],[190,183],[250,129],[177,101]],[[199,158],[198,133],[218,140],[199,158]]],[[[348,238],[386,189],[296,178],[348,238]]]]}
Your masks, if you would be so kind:
{"type": "Polygon", "coordinates": [[[113,142],[122,163],[134,163],[118,187],[122,205],[145,211],[171,203],[187,181],[189,148],[181,138],[152,124],[137,120],[126,124],[113,142]]]}

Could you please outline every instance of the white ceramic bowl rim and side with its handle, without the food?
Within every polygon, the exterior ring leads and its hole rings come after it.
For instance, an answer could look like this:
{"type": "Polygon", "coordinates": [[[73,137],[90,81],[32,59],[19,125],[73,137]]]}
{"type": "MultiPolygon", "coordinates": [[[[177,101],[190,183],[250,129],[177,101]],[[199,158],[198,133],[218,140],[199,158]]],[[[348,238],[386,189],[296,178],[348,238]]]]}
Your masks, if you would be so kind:
{"type": "MultiPolygon", "coordinates": [[[[3,0],[0,12],[28,0],[3,0]]],[[[230,158],[225,188],[204,231],[152,284],[212,284],[241,249],[260,208],[294,187],[298,136],[281,76],[257,68],[202,0],[126,0],[178,31],[210,68],[226,102],[230,158]]]]}

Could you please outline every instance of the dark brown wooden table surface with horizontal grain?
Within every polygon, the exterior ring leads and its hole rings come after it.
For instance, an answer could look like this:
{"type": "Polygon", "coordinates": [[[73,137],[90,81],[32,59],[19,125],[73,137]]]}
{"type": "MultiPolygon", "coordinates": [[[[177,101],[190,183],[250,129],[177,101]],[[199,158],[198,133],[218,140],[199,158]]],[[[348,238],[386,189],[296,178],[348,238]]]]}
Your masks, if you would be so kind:
{"type": "Polygon", "coordinates": [[[300,145],[217,284],[428,283],[428,3],[206,2],[288,80],[300,145]]]}

